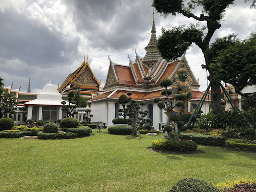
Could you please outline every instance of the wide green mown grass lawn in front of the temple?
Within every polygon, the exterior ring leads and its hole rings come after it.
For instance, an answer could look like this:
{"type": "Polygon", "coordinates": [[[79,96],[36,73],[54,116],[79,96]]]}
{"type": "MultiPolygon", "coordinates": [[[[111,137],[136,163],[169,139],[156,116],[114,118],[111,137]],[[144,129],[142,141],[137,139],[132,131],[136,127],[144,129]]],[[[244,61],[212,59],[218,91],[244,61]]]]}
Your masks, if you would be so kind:
{"type": "Polygon", "coordinates": [[[0,192],[168,192],[185,177],[256,179],[256,154],[199,145],[199,155],[148,151],[158,136],[0,139],[0,192]]]}

